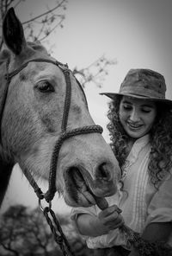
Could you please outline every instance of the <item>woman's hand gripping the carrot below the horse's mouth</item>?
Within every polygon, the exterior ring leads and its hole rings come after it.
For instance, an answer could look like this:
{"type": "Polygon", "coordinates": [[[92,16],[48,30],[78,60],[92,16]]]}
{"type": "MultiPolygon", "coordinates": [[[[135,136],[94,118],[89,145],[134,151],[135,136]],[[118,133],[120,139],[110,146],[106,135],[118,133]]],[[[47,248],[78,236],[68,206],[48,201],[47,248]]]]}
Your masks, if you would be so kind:
{"type": "Polygon", "coordinates": [[[107,232],[124,224],[124,219],[120,215],[121,210],[116,205],[110,206],[98,214],[99,221],[107,228],[107,232]]]}

